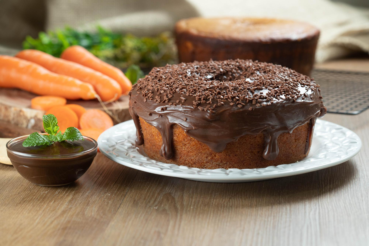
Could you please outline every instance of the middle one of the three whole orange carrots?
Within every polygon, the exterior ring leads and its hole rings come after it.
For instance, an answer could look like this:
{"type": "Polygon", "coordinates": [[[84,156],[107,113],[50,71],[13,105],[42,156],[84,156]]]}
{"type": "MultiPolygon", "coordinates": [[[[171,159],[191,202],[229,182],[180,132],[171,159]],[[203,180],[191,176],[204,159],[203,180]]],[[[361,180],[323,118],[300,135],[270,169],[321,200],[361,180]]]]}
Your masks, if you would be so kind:
{"type": "Polygon", "coordinates": [[[117,100],[122,94],[120,85],[114,79],[76,62],[56,58],[35,49],[25,49],[18,52],[15,57],[37,63],[51,72],[92,84],[103,101],[117,100]]]}

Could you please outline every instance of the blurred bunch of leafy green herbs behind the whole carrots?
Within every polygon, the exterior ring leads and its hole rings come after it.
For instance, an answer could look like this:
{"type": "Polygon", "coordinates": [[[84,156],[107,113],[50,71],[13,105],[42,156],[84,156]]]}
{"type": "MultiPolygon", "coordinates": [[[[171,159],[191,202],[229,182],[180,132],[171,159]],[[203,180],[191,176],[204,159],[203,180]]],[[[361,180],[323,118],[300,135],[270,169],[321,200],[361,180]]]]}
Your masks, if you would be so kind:
{"type": "Polygon", "coordinates": [[[27,36],[23,42],[24,49],[38,49],[56,57],[71,45],[81,45],[120,69],[132,64],[151,69],[177,62],[175,41],[169,32],[155,37],[135,37],[102,27],[97,27],[96,31],[77,31],[66,27],[54,32],[40,32],[38,38],[27,36]]]}

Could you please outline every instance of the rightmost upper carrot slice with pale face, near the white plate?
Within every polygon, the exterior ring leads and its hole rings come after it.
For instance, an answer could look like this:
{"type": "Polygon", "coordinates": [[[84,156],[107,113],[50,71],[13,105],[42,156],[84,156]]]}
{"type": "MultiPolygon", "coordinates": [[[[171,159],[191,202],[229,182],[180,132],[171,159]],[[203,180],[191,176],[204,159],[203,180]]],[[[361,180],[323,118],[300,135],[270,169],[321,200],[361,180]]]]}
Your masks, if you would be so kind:
{"type": "Polygon", "coordinates": [[[106,130],[113,126],[113,120],[110,116],[98,109],[87,110],[79,119],[80,128],[99,128],[106,130]]]}

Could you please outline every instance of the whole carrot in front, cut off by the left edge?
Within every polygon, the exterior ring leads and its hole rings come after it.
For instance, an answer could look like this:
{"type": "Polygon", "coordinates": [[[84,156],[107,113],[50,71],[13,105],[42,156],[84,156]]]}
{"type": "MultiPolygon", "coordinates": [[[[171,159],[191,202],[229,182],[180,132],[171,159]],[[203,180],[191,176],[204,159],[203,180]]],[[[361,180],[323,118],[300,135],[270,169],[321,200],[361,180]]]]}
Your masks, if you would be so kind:
{"type": "Polygon", "coordinates": [[[39,95],[59,96],[71,100],[89,100],[97,96],[88,83],[58,75],[36,63],[6,55],[0,55],[0,87],[18,88],[39,95]]]}

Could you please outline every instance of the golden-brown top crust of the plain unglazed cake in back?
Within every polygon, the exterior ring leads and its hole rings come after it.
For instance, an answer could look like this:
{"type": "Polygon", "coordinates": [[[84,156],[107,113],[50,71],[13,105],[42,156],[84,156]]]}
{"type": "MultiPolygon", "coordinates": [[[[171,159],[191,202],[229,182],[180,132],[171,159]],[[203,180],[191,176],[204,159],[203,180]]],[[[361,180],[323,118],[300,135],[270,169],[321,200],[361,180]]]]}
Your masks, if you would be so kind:
{"type": "Polygon", "coordinates": [[[197,17],[180,20],[176,23],[176,32],[208,38],[265,43],[301,41],[319,34],[317,28],[300,21],[231,17],[197,17]]]}

